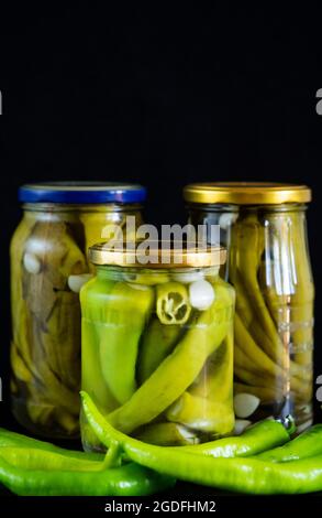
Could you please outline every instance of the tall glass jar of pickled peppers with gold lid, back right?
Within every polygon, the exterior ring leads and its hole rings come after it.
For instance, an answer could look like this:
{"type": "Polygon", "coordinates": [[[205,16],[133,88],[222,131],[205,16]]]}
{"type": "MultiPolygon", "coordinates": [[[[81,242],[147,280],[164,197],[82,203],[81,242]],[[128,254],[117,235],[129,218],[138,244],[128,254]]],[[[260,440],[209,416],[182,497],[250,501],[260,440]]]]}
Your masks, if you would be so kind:
{"type": "Polygon", "coordinates": [[[306,429],[312,423],[313,376],[314,287],[306,223],[311,191],[212,183],[188,185],[184,195],[189,222],[220,225],[229,249],[222,276],[236,290],[236,417],[292,416],[298,431],[306,429]]]}

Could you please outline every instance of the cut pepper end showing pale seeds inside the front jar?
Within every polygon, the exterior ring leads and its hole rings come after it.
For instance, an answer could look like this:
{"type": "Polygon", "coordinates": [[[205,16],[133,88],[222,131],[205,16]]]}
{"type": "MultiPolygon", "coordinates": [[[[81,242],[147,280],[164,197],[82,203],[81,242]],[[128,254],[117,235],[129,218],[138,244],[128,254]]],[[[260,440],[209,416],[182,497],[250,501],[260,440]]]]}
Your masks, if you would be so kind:
{"type": "Polygon", "coordinates": [[[185,324],[191,313],[187,288],[180,282],[158,284],[156,313],[162,324],[185,324]]]}

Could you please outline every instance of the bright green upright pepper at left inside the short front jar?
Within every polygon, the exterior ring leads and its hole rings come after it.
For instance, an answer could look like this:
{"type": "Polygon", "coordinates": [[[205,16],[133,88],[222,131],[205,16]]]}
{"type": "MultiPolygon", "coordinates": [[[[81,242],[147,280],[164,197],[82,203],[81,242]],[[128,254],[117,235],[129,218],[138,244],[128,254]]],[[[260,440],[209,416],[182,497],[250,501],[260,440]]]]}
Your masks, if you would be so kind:
{"type": "Polygon", "coordinates": [[[124,403],[136,389],[138,342],[152,312],[154,290],[146,287],[138,291],[125,282],[111,285],[102,280],[101,283],[102,289],[107,284],[108,290],[99,298],[97,284],[92,294],[91,282],[82,288],[81,306],[84,315],[89,312],[99,330],[100,364],[106,384],[116,401],[124,403]],[[87,309],[95,302],[92,299],[96,299],[95,306],[87,309]],[[99,306],[97,315],[93,314],[96,306],[99,306]]]}

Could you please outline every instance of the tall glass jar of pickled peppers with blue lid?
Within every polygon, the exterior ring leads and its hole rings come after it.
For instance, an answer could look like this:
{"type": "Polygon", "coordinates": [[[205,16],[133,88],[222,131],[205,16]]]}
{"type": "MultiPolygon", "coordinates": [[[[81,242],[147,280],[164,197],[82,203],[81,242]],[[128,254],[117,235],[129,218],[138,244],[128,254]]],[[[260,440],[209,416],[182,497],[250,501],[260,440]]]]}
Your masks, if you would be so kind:
{"type": "Polygon", "coordinates": [[[88,248],[125,216],[141,225],[145,188],[51,183],[20,188],[23,217],[11,241],[12,406],[38,435],[79,435],[79,290],[88,248]]]}

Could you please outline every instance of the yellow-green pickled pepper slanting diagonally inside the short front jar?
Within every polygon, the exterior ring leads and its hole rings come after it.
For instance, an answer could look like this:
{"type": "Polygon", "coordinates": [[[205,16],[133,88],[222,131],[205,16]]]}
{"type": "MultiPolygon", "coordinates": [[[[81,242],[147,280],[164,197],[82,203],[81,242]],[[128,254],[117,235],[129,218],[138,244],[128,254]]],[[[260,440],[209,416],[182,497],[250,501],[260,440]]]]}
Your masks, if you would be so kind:
{"type": "Polygon", "coordinates": [[[176,401],[197,378],[207,358],[225,338],[232,311],[231,292],[225,284],[219,282],[215,284],[214,302],[209,310],[200,312],[196,323],[191,324],[174,352],[129,401],[108,416],[109,421],[119,430],[131,433],[176,401]]]}

